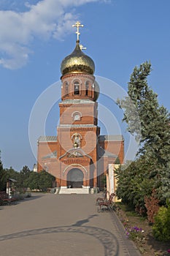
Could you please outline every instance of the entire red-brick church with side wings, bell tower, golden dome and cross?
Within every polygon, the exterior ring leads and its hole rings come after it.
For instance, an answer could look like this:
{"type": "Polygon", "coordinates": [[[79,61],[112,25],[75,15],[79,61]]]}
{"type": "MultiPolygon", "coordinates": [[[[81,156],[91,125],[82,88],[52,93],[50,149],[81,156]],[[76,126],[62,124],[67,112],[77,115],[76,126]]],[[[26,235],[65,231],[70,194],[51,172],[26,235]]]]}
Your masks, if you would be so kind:
{"type": "Polygon", "coordinates": [[[37,171],[56,177],[56,187],[90,189],[104,187],[109,165],[123,163],[122,135],[100,135],[99,86],[95,64],[82,52],[80,22],[73,52],[61,62],[60,121],[56,136],[38,139],[37,171]]]}

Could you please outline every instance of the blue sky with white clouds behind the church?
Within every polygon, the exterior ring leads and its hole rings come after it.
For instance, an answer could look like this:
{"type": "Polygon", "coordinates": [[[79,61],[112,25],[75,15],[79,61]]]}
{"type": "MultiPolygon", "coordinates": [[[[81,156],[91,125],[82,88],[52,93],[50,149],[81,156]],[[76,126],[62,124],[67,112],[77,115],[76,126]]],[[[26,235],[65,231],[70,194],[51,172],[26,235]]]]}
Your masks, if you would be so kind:
{"type": "MultiPolygon", "coordinates": [[[[75,46],[72,24],[76,20],[85,26],[80,42],[96,64],[96,75],[127,91],[134,67],[150,60],[149,84],[160,105],[169,110],[169,10],[169,0],[1,0],[0,149],[4,167],[21,170],[28,165],[32,169],[36,162],[28,137],[31,110],[39,95],[60,80],[61,61],[75,46]]],[[[105,104],[104,97],[98,101],[105,104]]],[[[106,105],[121,123],[120,110],[107,100],[106,105]]],[[[46,135],[56,135],[57,124],[55,104],[47,116],[46,135]]]]}

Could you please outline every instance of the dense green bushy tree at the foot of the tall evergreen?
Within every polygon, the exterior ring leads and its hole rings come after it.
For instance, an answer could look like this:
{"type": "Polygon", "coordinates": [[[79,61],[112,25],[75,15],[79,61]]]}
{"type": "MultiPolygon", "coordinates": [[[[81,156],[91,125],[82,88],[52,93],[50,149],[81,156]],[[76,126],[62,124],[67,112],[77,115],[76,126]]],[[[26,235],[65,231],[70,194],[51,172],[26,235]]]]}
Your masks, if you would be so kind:
{"type": "Polygon", "coordinates": [[[117,197],[129,204],[141,215],[146,213],[144,197],[150,196],[154,180],[150,179],[150,165],[146,165],[144,157],[125,163],[115,170],[117,176],[117,197]]]}

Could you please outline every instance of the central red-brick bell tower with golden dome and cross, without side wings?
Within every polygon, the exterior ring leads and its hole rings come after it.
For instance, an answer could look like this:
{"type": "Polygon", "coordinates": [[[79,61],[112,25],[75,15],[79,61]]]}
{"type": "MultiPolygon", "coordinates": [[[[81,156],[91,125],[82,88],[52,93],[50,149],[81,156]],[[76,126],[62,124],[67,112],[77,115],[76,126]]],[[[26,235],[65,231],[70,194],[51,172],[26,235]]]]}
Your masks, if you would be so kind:
{"type": "MultiPolygon", "coordinates": [[[[61,63],[61,102],[58,134],[58,159],[61,162],[61,187],[97,187],[98,99],[95,64],[82,52],[77,21],[77,42],[73,52],[61,63]],[[72,172],[71,172],[72,171],[72,172]],[[76,180],[82,172],[82,181],[76,180]],[[69,181],[74,177],[75,181],[69,181]],[[70,183],[71,182],[71,183],[70,183]]],[[[80,177],[80,176],[79,176],[80,177]]]]}

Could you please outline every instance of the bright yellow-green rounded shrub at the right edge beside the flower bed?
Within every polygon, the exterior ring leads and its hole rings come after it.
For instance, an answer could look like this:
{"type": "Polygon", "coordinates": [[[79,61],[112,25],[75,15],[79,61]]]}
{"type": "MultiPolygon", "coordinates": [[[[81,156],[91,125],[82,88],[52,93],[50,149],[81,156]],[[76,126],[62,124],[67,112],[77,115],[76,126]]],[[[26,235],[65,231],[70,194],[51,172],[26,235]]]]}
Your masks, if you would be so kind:
{"type": "Polygon", "coordinates": [[[167,208],[161,206],[154,219],[155,223],[152,227],[153,236],[158,241],[170,241],[170,204],[167,208]]]}

